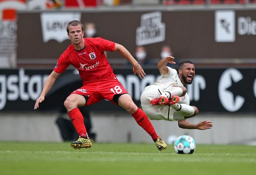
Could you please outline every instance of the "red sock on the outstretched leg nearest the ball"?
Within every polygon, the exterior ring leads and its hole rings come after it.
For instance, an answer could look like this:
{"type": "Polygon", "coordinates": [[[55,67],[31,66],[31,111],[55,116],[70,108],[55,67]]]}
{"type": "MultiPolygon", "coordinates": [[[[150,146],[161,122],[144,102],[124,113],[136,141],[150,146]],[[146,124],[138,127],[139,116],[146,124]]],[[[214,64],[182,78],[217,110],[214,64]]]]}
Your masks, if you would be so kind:
{"type": "Polygon", "coordinates": [[[138,125],[140,125],[151,137],[153,140],[157,139],[157,134],[155,133],[155,129],[149,121],[147,115],[144,111],[138,108],[133,114],[133,118],[136,120],[138,125]]]}

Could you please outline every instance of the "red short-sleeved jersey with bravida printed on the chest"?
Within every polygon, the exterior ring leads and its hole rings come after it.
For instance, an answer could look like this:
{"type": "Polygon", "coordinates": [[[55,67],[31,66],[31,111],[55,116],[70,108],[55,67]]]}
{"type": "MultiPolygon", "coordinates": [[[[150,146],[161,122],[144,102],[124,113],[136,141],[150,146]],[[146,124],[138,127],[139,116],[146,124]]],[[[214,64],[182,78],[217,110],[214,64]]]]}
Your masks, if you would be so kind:
{"type": "Polygon", "coordinates": [[[103,79],[114,78],[116,75],[104,54],[104,51],[115,50],[115,43],[103,38],[84,38],[85,47],[75,50],[71,44],[63,52],[53,69],[54,72],[62,73],[69,65],[78,69],[83,84],[103,79]]]}

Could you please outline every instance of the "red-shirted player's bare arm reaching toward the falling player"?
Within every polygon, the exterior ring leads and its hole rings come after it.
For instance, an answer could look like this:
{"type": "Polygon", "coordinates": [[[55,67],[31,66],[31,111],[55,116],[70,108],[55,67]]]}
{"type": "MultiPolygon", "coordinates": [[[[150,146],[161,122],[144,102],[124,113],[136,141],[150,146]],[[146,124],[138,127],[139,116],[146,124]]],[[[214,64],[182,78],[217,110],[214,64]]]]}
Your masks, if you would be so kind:
{"type": "Polygon", "coordinates": [[[144,75],[145,72],[142,69],[142,67],[139,65],[139,63],[133,58],[133,56],[131,55],[131,53],[121,44],[117,44],[115,43],[115,51],[117,51],[118,53],[120,53],[123,57],[125,57],[133,66],[133,73],[134,75],[138,75],[140,77],[140,79],[145,78],[144,75]]]}

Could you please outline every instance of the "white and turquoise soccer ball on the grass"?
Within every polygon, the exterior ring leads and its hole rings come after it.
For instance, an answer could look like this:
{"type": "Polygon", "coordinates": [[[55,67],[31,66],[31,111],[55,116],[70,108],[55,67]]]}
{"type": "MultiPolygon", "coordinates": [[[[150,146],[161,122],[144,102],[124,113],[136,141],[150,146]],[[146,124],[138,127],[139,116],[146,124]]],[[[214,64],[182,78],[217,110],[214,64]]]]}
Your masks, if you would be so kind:
{"type": "Polygon", "coordinates": [[[178,154],[193,154],[196,149],[196,142],[190,136],[180,136],[174,143],[174,150],[178,154]]]}

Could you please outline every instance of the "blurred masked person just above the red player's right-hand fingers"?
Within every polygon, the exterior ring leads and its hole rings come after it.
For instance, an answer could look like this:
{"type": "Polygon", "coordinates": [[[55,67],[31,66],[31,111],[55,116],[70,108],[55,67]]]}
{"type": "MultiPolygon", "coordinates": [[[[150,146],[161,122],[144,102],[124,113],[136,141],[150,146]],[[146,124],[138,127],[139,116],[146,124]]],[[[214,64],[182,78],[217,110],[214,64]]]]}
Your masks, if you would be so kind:
{"type": "MultiPolygon", "coordinates": [[[[143,46],[138,46],[135,49],[135,59],[136,61],[143,67],[145,65],[151,65],[151,62],[147,59],[147,51],[146,48],[143,46]]],[[[130,65],[131,63],[127,63],[127,66],[130,65]]]]}

